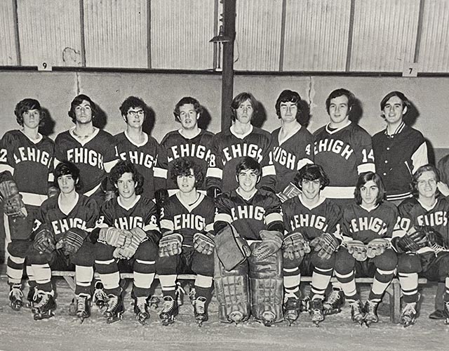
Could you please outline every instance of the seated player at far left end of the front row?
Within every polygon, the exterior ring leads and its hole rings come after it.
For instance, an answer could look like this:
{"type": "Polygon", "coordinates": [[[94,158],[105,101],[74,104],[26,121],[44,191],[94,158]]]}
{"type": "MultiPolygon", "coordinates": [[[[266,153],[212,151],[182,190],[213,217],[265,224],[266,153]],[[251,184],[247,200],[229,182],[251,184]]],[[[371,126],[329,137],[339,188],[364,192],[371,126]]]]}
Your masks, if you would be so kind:
{"type": "Polygon", "coordinates": [[[53,316],[55,309],[51,270],[76,272],[76,315],[81,322],[90,316],[94,245],[89,233],[95,227],[100,210],[95,200],[76,192],[79,169],[62,161],[54,171],[58,196],[50,197],[39,208],[34,223],[34,243],[27,254],[36,279],[34,319],[53,316]]]}

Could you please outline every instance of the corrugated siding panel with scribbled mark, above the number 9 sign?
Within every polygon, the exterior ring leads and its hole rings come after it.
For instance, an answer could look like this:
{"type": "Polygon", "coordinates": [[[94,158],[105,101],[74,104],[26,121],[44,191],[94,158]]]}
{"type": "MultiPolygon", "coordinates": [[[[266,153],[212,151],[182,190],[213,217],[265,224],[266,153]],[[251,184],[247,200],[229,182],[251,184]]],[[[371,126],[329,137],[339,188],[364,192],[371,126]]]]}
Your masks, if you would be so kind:
{"type": "Polygon", "coordinates": [[[79,0],[18,0],[18,22],[22,65],[81,65],[79,0]]]}

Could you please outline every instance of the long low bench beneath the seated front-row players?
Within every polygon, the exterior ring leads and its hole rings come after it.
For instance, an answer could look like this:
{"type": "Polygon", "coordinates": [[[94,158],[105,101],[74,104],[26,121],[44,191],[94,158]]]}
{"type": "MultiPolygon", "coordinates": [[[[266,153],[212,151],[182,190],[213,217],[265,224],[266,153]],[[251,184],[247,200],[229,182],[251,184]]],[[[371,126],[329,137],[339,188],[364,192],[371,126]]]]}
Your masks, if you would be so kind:
{"type": "MultiPolygon", "coordinates": [[[[75,290],[75,272],[56,270],[52,271],[53,277],[62,277],[65,279],[70,288],[75,290]]],[[[95,273],[95,277],[98,278],[98,274],[95,273]]],[[[133,273],[121,273],[121,279],[133,279],[133,273]]],[[[158,279],[157,274],[155,279],[158,279]]],[[[180,280],[194,280],[194,274],[180,274],[177,279],[180,280]]],[[[336,282],[336,279],[332,279],[336,282]]],[[[301,282],[311,282],[311,277],[301,277],[301,282]]],[[[357,284],[373,284],[373,278],[356,278],[357,284]]],[[[418,284],[427,284],[427,279],[420,278],[418,284]]],[[[393,323],[399,323],[399,317],[401,317],[401,286],[399,285],[399,280],[394,278],[387,289],[387,294],[389,295],[389,305],[390,305],[390,320],[393,323]]]]}

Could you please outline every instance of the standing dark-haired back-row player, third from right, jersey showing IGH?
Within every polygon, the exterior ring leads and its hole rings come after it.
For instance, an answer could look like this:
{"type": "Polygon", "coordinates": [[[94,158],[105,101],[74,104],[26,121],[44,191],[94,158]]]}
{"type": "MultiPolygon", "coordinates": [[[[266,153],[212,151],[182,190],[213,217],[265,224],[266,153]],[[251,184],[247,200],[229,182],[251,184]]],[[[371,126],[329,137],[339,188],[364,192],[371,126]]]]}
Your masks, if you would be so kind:
{"type": "Polygon", "coordinates": [[[284,90],[276,101],[276,114],[281,119],[281,128],[272,132],[273,162],[276,168],[276,194],[281,201],[300,193],[293,185],[297,171],[312,164],[313,154],[306,154],[306,147],[313,143],[313,135],[302,126],[300,94],[284,90]]]}

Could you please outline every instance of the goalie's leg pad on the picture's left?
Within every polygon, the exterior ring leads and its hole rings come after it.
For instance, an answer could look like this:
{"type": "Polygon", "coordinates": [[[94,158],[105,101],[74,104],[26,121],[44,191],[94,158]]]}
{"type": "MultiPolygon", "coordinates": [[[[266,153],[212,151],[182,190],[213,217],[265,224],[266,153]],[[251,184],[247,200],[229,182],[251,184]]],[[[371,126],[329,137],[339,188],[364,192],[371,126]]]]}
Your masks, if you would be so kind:
{"type": "Polygon", "coordinates": [[[214,284],[220,322],[237,323],[250,317],[248,263],[227,271],[214,253],[214,284]]]}

